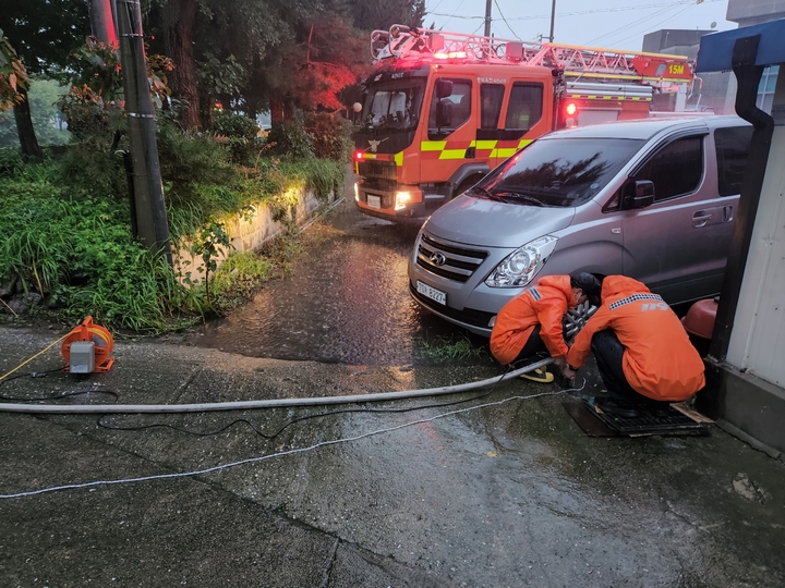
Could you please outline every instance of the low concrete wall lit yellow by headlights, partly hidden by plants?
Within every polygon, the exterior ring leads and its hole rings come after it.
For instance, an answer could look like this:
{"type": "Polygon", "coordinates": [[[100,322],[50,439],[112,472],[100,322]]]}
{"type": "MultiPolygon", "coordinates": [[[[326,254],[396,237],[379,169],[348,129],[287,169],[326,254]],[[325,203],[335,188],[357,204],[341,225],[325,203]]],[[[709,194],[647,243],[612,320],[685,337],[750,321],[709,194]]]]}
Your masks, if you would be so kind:
{"type": "MultiPolygon", "coordinates": [[[[297,195],[298,205],[294,209],[293,220],[298,226],[309,222],[314,213],[323,206],[331,204],[335,200],[335,194],[330,194],[327,200],[319,200],[312,192],[299,192],[297,195]]],[[[276,236],[287,231],[287,225],[276,221],[274,211],[267,205],[258,205],[253,207],[253,213],[246,216],[235,216],[229,219],[221,219],[225,230],[229,235],[233,248],[229,250],[220,250],[216,257],[218,265],[233,252],[251,252],[258,249],[276,236]]],[[[185,272],[191,272],[191,280],[198,282],[204,277],[204,264],[201,257],[194,258],[189,252],[191,242],[183,243],[180,250],[174,253],[174,268],[183,277],[185,272]]]]}

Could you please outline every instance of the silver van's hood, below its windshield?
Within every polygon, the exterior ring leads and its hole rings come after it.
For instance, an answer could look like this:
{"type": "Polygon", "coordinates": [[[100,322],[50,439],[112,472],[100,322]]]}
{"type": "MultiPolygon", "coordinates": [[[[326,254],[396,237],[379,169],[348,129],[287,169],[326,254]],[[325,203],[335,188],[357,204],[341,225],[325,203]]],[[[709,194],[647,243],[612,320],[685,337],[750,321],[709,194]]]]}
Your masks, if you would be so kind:
{"type": "Polygon", "coordinates": [[[462,195],[436,210],[425,230],[483,247],[520,247],[572,222],[576,209],[514,205],[462,195]]]}

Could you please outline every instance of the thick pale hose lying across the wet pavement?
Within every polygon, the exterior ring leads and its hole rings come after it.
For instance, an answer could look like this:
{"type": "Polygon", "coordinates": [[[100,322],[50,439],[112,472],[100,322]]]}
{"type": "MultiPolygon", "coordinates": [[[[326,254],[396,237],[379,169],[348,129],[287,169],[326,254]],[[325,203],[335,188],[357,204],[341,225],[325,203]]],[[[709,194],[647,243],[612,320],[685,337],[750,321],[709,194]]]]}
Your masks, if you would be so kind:
{"type": "Polygon", "coordinates": [[[278,408],[281,406],[319,406],[326,404],[348,404],[358,402],[382,402],[402,399],[415,399],[420,396],[438,396],[443,394],[456,394],[475,388],[483,388],[498,383],[503,380],[516,378],[521,373],[534,371],[553,363],[548,357],[542,362],[530,364],[515,371],[508,371],[504,376],[469,382],[456,385],[444,385],[440,388],[426,388],[423,390],[404,390],[402,392],[379,392],[376,394],[357,394],[349,396],[324,396],[309,399],[271,399],[258,401],[235,401],[235,402],[208,402],[201,404],[90,404],[90,405],[61,405],[61,404],[19,404],[0,403],[0,413],[27,413],[46,415],[88,415],[88,414],[164,414],[164,413],[209,413],[216,411],[250,411],[255,408],[278,408]]]}

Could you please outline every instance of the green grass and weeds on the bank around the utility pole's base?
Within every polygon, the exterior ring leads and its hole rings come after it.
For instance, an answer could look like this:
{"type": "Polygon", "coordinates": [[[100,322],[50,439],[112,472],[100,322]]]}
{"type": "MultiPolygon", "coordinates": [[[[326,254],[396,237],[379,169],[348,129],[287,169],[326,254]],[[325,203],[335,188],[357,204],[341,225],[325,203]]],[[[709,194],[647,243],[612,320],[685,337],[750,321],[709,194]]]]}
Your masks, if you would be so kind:
{"type": "Polygon", "coordinates": [[[174,329],[235,306],[283,267],[251,253],[234,253],[218,267],[219,253],[230,249],[230,217],[267,205],[295,235],[299,191],[325,197],[342,186],[341,162],[270,159],[263,151],[254,168],[243,168],[215,138],[167,126],[161,137],[172,240],[191,243],[198,268],[172,269],[133,240],[121,160],[76,144],[39,163],[0,149],[0,234],[8,235],[0,282],[41,295],[35,311],[69,322],[92,315],[116,329],[174,329]]]}

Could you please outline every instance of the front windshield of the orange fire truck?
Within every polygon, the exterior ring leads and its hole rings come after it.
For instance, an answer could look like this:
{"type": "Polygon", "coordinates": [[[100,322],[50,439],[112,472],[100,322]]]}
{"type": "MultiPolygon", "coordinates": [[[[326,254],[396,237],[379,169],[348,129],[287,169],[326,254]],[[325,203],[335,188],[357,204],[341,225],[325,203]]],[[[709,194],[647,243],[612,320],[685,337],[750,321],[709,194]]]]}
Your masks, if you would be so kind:
{"type": "Polygon", "coordinates": [[[371,86],[363,105],[363,127],[390,131],[415,128],[424,85],[424,79],[403,78],[371,86]]]}

